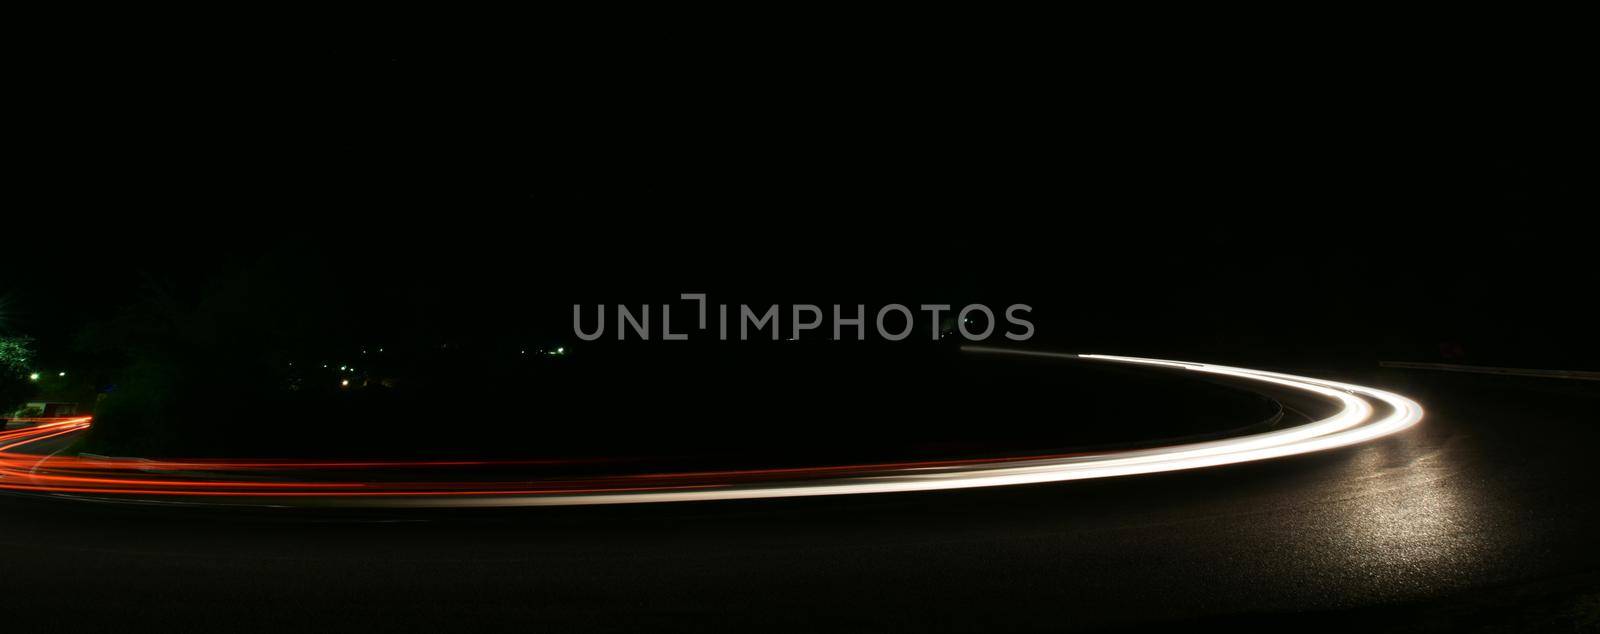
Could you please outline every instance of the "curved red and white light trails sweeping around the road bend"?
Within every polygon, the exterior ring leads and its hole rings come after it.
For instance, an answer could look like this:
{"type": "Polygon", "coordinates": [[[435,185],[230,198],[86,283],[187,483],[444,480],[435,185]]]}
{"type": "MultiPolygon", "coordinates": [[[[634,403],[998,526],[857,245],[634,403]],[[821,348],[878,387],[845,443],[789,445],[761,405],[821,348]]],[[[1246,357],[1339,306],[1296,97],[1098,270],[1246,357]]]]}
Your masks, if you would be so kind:
{"type": "Polygon", "coordinates": [[[91,424],[90,418],[66,418],[42,419],[32,427],[0,432],[0,490],[120,501],[184,500],[227,504],[395,508],[630,504],[901,493],[1085,480],[1237,464],[1355,445],[1398,432],[1422,419],[1421,405],[1394,392],[1275,371],[1163,359],[982,346],[968,346],[963,351],[1144,365],[1171,371],[1229,376],[1306,392],[1336,403],[1339,411],[1307,424],[1262,434],[1123,451],[512,482],[326,480],[326,476],[341,471],[387,469],[437,477],[440,469],[446,467],[539,464],[541,461],[146,461],[42,456],[18,451],[46,439],[82,432],[91,424]],[[246,474],[248,479],[242,479],[246,474]],[[306,477],[294,477],[299,474],[306,474],[306,477]]]}

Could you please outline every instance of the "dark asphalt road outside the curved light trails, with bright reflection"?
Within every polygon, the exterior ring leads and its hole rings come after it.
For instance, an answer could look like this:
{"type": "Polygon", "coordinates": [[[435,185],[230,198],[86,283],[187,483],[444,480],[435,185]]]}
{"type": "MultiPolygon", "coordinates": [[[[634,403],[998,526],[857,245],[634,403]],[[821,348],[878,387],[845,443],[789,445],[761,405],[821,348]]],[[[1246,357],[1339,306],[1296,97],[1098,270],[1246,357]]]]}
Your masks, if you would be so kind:
{"type": "Polygon", "coordinates": [[[0,628],[1600,628],[1600,389],[1328,378],[1427,419],[1306,456],[965,492],[358,514],[5,496],[0,628]]]}

